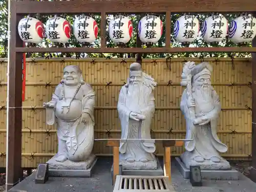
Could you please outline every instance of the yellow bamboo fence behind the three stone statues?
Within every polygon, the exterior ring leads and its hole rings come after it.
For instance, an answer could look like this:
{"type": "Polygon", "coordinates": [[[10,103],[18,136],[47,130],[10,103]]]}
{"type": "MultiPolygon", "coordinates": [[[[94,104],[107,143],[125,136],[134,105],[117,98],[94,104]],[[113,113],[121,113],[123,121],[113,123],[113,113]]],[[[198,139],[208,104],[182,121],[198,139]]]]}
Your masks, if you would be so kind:
{"type": "MultiPolygon", "coordinates": [[[[158,82],[154,91],[156,112],[152,121],[153,138],[185,138],[185,120],[180,111],[180,86],[183,62],[202,59],[143,59],[143,71],[158,82]]],[[[248,58],[205,58],[214,69],[212,85],[220,96],[222,111],[218,121],[218,136],[228,146],[222,154],[227,159],[251,158],[251,60],[248,58]]],[[[78,65],[84,79],[96,92],[95,138],[120,138],[117,101],[121,86],[127,81],[134,59],[56,58],[27,59],[26,95],[23,102],[23,167],[36,167],[57,152],[56,127],[46,125],[43,102],[51,100],[63,68],[78,65]]],[[[22,65],[20,63],[20,65],[22,65]]],[[[6,97],[7,62],[0,60],[0,167],[6,166],[6,97]]],[[[173,156],[183,153],[183,147],[172,148],[173,156]]],[[[94,153],[112,154],[103,142],[94,143],[94,153]]],[[[163,154],[157,145],[156,154],[163,154]]]]}

